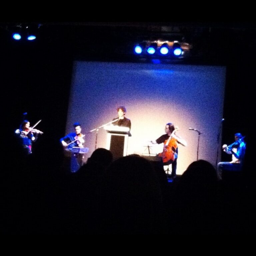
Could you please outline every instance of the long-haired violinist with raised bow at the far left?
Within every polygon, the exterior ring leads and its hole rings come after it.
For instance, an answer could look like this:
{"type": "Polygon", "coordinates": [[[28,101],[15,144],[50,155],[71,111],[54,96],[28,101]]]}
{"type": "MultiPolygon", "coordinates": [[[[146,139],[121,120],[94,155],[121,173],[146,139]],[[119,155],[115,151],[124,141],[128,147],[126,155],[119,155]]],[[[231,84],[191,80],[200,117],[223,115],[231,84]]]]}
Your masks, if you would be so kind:
{"type": "Polygon", "coordinates": [[[27,154],[32,154],[32,142],[37,140],[38,134],[43,134],[43,132],[30,127],[30,122],[28,120],[24,120],[15,133],[20,137],[22,146],[27,154]]]}

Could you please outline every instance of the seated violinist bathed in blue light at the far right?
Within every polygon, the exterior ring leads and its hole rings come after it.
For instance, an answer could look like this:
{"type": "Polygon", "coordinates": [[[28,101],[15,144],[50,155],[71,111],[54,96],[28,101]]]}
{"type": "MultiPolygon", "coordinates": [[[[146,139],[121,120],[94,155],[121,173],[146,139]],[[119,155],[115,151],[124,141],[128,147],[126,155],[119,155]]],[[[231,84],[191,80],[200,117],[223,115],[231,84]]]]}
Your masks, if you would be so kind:
{"type": "Polygon", "coordinates": [[[227,154],[232,154],[231,162],[219,162],[217,166],[217,174],[219,179],[222,179],[222,171],[242,171],[243,161],[245,156],[246,143],[241,133],[235,134],[235,142],[227,146],[224,144],[222,149],[227,154]]]}

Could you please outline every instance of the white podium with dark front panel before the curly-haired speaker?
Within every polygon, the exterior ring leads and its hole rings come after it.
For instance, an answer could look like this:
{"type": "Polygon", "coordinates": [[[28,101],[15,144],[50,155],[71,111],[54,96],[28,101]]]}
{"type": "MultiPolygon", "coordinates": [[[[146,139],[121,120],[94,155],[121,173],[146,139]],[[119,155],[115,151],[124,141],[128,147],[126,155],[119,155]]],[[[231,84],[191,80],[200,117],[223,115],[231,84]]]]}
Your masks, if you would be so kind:
{"type": "Polygon", "coordinates": [[[131,136],[129,127],[108,125],[104,129],[108,132],[106,149],[111,151],[113,159],[126,156],[128,137],[131,136]]]}

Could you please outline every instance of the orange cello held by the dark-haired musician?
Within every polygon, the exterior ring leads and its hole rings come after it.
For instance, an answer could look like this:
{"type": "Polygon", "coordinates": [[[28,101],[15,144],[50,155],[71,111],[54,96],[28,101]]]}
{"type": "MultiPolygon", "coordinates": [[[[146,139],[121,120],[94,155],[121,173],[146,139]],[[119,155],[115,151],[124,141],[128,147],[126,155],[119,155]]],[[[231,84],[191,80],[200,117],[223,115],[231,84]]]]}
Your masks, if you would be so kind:
{"type": "Polygon", "coordinates": [[[178,147],[178,143],[172,136],[178,130],[179,128],[175,127],[169,139],[164,142],[163,152],[158,154],[158,156],[162,157],[164,163],[171,164],[175,159],[175,152],[178,147]]]}

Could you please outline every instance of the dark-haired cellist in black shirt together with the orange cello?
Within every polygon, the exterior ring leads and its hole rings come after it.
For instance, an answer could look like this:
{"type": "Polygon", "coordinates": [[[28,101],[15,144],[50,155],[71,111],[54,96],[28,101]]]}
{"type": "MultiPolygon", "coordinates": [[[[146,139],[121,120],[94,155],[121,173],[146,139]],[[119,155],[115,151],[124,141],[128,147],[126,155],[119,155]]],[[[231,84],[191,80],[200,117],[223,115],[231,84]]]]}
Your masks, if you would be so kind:
{"type": "Polygon", "coordinates": [[[160,155],[163,158],[164,165],[172,164],[172,173],[171,173],[172,178],[176,177],[178,144],[181,144],[182,146],[187,146],[187,142],[175,134],[176,130],[177,128],[175,129],[172,123],[167,123],[165,125],[165,134],[160,136],[158,139],[151,141],[151,143],[153,144],[164,143],[163,153],[161,153],[160,155]],[[168,145],[165,145],[166,142],[168,142],[168,140],[169,140],[168,145]],[[170,148],[169,148],[169,145],[170,145],[170,148]],[[168,159],[168,158],[166,159],[166,156],[169,156],[169,154],[165,155],[165,152],[168,150],[171,150],[171,159],[168,159]]]}

